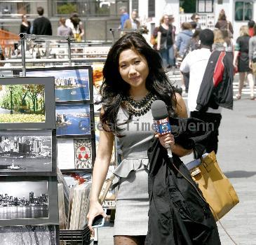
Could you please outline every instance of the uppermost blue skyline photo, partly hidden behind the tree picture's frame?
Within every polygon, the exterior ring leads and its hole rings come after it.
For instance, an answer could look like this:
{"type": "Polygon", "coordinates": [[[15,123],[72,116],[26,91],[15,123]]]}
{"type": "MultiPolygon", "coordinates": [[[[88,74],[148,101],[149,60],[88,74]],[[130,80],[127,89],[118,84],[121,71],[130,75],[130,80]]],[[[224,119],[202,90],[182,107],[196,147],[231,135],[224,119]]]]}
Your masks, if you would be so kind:
{"type": "Polygon", "coordinates": [[[54,76],[55,101],[72,102],[90,99],[88,69],[27,71],[27,76],[54,76]]]}

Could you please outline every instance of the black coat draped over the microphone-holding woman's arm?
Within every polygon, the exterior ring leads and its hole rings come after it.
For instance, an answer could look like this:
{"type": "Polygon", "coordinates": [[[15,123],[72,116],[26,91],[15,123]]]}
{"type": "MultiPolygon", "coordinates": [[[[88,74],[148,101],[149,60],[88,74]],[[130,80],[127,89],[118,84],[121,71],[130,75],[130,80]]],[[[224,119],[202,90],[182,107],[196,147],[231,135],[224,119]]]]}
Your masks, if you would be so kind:
{"type": "MultiPolygon", "coordinates": [[[[189,124],[202,123],[194,118],[170,120],[175,141],[184,148],[194,148],[197,155],[203,152],[203,144],[209,133],[189,130],[189,124]],[[186,123],[182,130],[180,123],[186,123]],[[187,140],[185,140],[187,138],[187,140]]],[[[166,148],[158,139],[152,139],[149,157],[149,227],[147,245],[219,245],[220,237],[213,214],[194,188],[196,183],[177,155],[173,162],[194,187],[175,170],[168,159],[166,148]]],[[[199,190],[199,189],[198,189],[199,190]]],[[[199,190],[199,192],[201,192],[199,190]]]]}

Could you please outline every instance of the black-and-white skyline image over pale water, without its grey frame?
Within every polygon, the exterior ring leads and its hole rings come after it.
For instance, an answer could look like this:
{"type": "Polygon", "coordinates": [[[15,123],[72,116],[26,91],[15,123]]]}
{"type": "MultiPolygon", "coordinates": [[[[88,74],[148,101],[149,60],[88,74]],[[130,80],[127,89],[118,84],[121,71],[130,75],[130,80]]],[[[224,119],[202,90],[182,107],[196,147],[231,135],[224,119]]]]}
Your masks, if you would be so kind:
{"type": "Polygon", "coordinates": [[[0,220],[48,218],[47,181],[1,181],[0,220]]]}

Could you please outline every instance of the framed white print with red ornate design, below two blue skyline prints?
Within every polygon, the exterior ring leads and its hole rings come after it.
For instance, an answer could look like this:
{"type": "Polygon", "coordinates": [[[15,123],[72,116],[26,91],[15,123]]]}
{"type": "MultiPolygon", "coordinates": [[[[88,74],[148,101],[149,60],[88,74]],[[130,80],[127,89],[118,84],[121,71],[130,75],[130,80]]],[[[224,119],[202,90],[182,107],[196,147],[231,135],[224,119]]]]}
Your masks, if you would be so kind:
{"type": "Polygon", "coordinates": [[[58,139],[58,167],[70,170],[93,169],[95,161],[94,139],[58,139]]]}

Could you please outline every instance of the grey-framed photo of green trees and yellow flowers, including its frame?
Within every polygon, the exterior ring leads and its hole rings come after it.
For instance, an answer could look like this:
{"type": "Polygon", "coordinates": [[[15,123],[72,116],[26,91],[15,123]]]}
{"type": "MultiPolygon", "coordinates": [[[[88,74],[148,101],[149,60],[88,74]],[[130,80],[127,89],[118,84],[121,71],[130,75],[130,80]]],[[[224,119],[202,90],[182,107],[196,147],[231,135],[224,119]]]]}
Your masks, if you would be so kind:
{"type": "Polygon", "coordinates": [[[0,78],[0,130],[54,129],[54,78],[0,78]]]}

